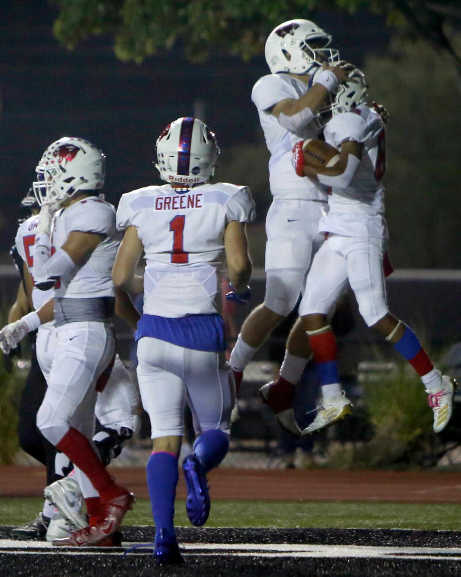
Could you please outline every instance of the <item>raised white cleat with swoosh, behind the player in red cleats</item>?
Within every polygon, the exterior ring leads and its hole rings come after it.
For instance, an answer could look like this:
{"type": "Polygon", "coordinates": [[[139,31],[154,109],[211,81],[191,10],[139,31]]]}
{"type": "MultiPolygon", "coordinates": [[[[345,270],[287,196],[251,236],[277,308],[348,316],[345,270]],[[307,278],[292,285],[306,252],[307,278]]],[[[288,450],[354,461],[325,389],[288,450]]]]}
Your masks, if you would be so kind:
{"type": "Polygon", "coordinates": [[[44,496],[58,509],[71,530],[84,529],[88,526],[86,517],[80,514],[83,496],[75,477],[64,477],[48,485],[44,490],[44,496]]]}

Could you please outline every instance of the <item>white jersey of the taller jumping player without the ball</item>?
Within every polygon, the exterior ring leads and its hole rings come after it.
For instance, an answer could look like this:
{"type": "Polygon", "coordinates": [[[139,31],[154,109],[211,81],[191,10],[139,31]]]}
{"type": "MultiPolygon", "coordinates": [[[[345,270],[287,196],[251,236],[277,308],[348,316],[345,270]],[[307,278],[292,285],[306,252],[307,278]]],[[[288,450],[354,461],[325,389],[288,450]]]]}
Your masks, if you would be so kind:
{"type": "Polygon", "coordinates": [[[264,131],[269,160],[269,183],[274,198],[326,201],[327,187],[308,178],[298,177],[292,162],[292,149],[306,138],[317,138],[319,131],[307,125],[295,133],[290,132],[267,112],[281,100],[298,99],[308,90],[308,85],[288,74],[266,74],[259,78],[251,92],[251,99],[258,108],[259,121],[264,131]]]}

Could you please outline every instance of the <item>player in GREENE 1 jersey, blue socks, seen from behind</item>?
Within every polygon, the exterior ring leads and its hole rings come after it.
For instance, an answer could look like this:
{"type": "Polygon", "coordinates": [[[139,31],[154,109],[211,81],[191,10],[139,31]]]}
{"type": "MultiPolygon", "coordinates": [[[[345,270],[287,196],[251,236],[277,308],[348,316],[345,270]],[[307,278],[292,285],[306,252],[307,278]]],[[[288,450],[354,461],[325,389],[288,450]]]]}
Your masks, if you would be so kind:
{"type": "MultiPolygon", "coordinates": [[[[186,511],[201,526],[210,511],[206,474],[229,448],[235,403],[225,359],[221,281],[249,298],[251,261],[245,223],[255,218],[246,186],[210,183],[216,138],[197,118],[178,118],[158,137],[157,168],[167,182],[123,194],[117,227],[123,241],[112,272],[115,286],[144,292],[138,323],[138,382],[152,426],[147,481],[156,526],[157,564],[180,564],[173,514],[183,410],[191,408],[196,440],[183,462],[186,511]],[[135,274],[145,252],[143,276],[135,274]]],[[[231,377],[232,379],[232,377],[231,377]]],[[[231,384],[232,383],[232,384],[231,384]]]]}

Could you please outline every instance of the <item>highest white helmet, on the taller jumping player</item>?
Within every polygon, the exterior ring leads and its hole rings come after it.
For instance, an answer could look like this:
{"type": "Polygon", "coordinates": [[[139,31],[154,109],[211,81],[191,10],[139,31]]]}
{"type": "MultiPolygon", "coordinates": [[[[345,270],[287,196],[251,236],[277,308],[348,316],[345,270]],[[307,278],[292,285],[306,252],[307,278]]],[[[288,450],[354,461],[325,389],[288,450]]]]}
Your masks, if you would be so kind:
{"type": "Polygon", "coordinates": [[[264,55],[271,73],[310,74],[322,62],[339,61],[339,52],[327,48],[331,35],[310,20],[288,20],[279,24],[266,40],[264,55]],[[320,46],[311,47],[316,41],[320,46]]]}

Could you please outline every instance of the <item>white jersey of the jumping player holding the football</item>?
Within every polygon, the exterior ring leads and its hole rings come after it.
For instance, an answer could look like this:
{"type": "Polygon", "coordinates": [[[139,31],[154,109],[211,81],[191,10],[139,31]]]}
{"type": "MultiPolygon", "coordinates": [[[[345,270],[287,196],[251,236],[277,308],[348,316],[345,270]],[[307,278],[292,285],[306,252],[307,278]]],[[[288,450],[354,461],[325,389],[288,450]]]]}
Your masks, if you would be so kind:
{"type": "Polygon", "coordinates": [[[335,115],[324,129],[325,140],[335,148],[347,140],[363,143],[362,158],[347,188],[332,187],[328,212],[319,231],[348,237],[387,238],[384,218],[386,129],[379,114],[361,104],[354,111],[335,115]]]}

